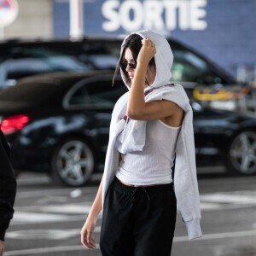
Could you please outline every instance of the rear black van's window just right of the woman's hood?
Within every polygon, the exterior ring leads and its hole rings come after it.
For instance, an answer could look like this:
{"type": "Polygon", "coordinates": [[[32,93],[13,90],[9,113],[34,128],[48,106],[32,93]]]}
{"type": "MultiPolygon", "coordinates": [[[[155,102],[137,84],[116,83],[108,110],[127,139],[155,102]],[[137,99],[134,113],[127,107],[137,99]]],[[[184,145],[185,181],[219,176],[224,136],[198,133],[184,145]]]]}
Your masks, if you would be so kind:
{"type": "Polygon", "coordinates": [[[221,83],[221,79],[208,67],[207,62],[187,50],[173,51],[172,81],[198,84],[221,83]]]}

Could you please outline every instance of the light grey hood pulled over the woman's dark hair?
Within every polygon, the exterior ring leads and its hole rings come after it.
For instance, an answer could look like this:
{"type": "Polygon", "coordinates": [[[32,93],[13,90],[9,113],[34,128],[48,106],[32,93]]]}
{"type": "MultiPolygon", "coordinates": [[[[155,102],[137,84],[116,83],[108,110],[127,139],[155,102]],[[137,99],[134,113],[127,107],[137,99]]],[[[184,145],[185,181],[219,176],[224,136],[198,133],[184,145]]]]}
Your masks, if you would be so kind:
{"type": "MultiPolygon", "coordinates": [[[[153,41],[156,48],[156,54],[154,55],[154,61],[156,66],[156,76],[154,79],[154,83],[151,84],[149,88],[150,89],[158,88],[163,85],[170,84],[170,79],[172,78],[171,68],[172,68],[172,62],[173,62],[173,55],[172,55],[172,49],[170,47],[170,44],[168,43],[166,38],[150,30],[143,30],[141,32],[132,32],[131,34],[137,34],[142,38],[149,38],[150,40],[153,41]]],[[[123,41],[123,44],[121,45],[120,55],[122,55],[127,38],[129,38],[131,34],[129,34],[123,41]]],[[[128,81],[126,81],[125,74],[123,73],[121,68],[120,68],[120,73],[125,85],[130,90],[131,84],[128,81]]]]}

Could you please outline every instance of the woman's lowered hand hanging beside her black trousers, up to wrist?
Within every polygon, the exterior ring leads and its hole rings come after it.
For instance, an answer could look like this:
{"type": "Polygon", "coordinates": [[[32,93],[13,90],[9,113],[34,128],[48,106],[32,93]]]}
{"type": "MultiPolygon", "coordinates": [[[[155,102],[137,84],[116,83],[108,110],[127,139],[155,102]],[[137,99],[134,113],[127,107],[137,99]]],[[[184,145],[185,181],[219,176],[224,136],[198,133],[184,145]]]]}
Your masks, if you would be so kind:
{"type": "Polygon", "coordinates": [[[92,232],[96,227],[96,218],[88,217],[84,223],[84,226],[81,230],[81,242],[84,247],[88,249],[96,248],[96,241],[92,236],[92,232]]]}

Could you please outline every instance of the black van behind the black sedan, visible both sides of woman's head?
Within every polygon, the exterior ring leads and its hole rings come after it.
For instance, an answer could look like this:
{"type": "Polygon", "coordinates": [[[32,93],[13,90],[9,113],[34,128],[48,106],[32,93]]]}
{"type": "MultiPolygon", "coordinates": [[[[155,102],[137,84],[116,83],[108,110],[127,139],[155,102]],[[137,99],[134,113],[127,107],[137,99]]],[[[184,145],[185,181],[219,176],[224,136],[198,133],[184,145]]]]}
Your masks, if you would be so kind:
{"type": "MultiPolygon", "coordinates": [[[[0,89],[29,75],[114,69],[123,38],[10,40],[0,43],[0,89]]],[[[236,79],[189,46],[168,38],[174,55],[172,81],[185,88],[236,84],[236,79]]]]}

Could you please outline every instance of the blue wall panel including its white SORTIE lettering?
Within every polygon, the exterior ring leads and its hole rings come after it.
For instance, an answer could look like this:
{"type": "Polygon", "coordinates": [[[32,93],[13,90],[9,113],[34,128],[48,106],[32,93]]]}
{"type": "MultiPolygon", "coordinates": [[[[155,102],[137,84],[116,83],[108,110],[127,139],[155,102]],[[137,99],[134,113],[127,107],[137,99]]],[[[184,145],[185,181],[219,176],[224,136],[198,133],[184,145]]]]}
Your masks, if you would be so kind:
{"type": "MultiPolygon", "coordinates": [[[[149,28],[236,73],[256,65],[255,0],[84,0],[84,35],[149,28]]],[[[69,35],[69,1],[54,1],[55,37],[69,35]]]]}

